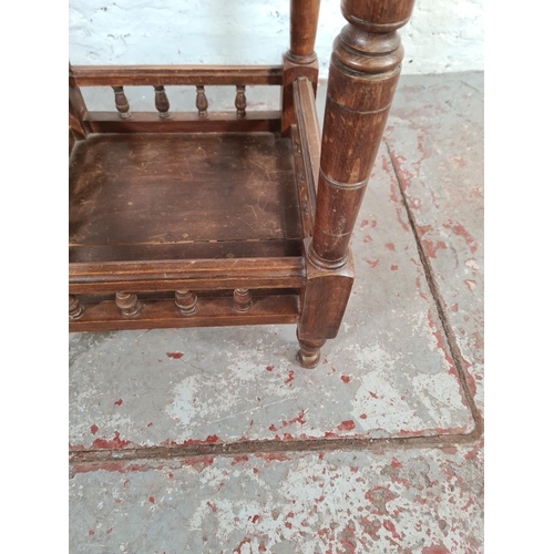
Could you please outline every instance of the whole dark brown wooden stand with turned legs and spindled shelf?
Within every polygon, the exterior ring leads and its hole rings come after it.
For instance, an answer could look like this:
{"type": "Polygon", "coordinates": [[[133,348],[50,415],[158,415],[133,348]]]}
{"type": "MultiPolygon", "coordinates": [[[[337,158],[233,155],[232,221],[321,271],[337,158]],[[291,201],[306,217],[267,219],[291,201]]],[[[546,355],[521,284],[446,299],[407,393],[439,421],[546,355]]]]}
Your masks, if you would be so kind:
{"type": "Polygon", "coordinates": [[[291,0],[280,65],[70,65],[70,330],[296,324],[298,361],[317,366],[352,288],[412,7],[342,0],[321,134],[318,0],[291,0]],[[151,112],[125,95],[144,85],[151,112]],[[208,110],[219,85],[235,111],[208,110]],[[248,110],[252,85],[279,86],[280,110],[248,110]],[[111,86],[115,110],[89,111],[83,86],[111,86]],[[170,110],[167,86],[194,88],[191,111],[170,110]]]}

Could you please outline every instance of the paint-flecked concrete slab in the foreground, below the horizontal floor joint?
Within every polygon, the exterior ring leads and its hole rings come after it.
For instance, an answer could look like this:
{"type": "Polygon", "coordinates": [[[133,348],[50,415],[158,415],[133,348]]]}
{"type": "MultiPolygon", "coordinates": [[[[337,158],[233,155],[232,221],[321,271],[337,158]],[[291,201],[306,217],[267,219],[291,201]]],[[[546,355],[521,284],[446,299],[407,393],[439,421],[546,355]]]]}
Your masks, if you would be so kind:
{"type": "Polygon", "coordinates": [[[479,445],[75,470],[75,554],[483,552],[479,445]]]}

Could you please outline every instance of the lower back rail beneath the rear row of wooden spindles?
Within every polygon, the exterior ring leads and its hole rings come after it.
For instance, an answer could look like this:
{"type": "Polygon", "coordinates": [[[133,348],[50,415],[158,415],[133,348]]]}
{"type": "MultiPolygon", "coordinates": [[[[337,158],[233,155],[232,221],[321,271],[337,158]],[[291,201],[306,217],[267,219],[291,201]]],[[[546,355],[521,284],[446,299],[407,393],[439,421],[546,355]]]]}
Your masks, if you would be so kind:
{"type": "Polygon", "coordinates": [[[174,112],[163,121],[154,112],[133,112],[127,120],[114,112],[88,112],[85,122],[93,133],[260,133],[279,131],[280,112],[248,112],[244,117],[232,112],[211,112],[204,117],[174,112]]]}

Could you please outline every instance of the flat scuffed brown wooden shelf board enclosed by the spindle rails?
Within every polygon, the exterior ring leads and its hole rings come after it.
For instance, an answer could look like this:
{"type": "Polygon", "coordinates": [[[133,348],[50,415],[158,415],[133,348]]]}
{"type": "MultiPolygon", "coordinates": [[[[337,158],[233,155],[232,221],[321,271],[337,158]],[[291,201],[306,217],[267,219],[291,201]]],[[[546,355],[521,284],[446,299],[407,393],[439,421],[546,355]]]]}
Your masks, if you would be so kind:
{"type": "Polygon", "coordinates": [[[70,167],[70,244],[301,238],[278,134],[92,135],[70,167]]]}

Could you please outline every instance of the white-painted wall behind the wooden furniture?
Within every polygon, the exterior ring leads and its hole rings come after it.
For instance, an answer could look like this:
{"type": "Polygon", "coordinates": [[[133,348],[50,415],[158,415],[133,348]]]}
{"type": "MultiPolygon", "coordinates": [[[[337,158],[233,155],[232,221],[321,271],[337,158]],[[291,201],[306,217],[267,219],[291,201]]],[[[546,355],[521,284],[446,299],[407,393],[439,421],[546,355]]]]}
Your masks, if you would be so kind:
{"type": "MultiPolygon", "coordinates": [[[[321,1],[321,76],[346,24],[339,4],[321,1]]],[[[278,64],[288,18],[289,0],[70,0],[70,61],[278,64]]],[[[403,73],[483,70],[483,0],[417,0],[400,31],[403,73]]]]}

